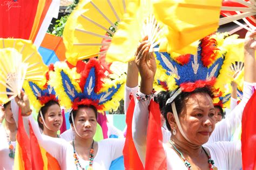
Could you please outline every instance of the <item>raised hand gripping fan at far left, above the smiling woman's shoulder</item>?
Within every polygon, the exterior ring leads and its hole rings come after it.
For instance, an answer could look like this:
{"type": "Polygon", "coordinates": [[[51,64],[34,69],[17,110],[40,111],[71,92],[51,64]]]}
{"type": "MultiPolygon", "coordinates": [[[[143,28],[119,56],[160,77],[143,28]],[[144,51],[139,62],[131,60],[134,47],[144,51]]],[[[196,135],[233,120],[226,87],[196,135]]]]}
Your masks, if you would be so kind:
{"type": "Polygon", "coordinates": [[[31,111],[29,105],[29,98],[26,96],[24,91],[21,91],[20,96],[15,98],[16,103],[18,104],[19,108],[21,108],[22,114],[28,113],[31,111]]]}

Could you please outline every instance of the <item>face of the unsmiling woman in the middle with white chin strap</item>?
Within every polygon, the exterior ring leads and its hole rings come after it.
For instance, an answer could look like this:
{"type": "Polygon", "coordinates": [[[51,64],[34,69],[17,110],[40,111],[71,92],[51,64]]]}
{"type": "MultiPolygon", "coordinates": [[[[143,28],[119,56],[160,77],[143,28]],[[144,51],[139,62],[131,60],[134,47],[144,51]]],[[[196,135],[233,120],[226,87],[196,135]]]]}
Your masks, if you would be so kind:
{"type": "Polygon", "coordinates": [[[76,130],[83,139],[93,138],[96,133],[97,119],[92,108],[79,108],[74,121],[76,130]]]}

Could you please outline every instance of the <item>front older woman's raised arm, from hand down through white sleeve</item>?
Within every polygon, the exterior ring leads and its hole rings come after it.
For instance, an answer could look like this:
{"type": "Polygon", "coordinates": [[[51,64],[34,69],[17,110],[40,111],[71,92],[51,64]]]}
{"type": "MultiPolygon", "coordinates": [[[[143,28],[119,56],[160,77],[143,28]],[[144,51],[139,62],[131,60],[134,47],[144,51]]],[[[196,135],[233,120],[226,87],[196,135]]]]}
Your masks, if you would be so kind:
{"type": "MultiPolygon", "coordinates": [[[[153,90],[153,80],[156,73],[156,60],[152,53],[149,53],[150,44],[147,41],[142,42],[136,53],[135,63],[142,80],[140,81],[139,96],[146,98],[153,90]]],[[[134,145],[138,151],[140,160],[145,165],[146,157],[146,133],[147,123],[149,119],[149,111],[147,109],[151,98],[147,100],[136,100],[134,114],[132,119],[132,137],[134,145]]]]}

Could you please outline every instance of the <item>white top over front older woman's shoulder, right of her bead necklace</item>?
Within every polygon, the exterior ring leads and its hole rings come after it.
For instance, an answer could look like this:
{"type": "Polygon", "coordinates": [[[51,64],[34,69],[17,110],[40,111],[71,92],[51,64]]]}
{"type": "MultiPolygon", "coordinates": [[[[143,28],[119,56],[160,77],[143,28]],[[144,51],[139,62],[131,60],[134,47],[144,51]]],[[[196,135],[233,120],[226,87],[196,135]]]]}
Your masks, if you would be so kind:
{"type": "Polygon", "coordinates": [[[221,141],[206,145],[218,169],[241,169],[241,141],[221,141]]]}

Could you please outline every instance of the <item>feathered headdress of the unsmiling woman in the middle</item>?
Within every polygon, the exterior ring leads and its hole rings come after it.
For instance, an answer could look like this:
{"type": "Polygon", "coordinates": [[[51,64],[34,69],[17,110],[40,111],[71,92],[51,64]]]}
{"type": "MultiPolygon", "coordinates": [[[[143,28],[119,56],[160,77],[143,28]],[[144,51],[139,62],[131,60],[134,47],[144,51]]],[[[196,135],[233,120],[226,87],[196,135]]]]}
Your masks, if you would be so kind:
{"type": "Polygon", "coordinates": [[[122,98],[122,80],[107,80],[99,61],[91,58],[84,70],[77,73],[66,63],[56,63],[55,72],[50,73],[52,85],[60,104],[76,110],[79,105],[93,105],[99,112],[116,109],[122,98]]]}

